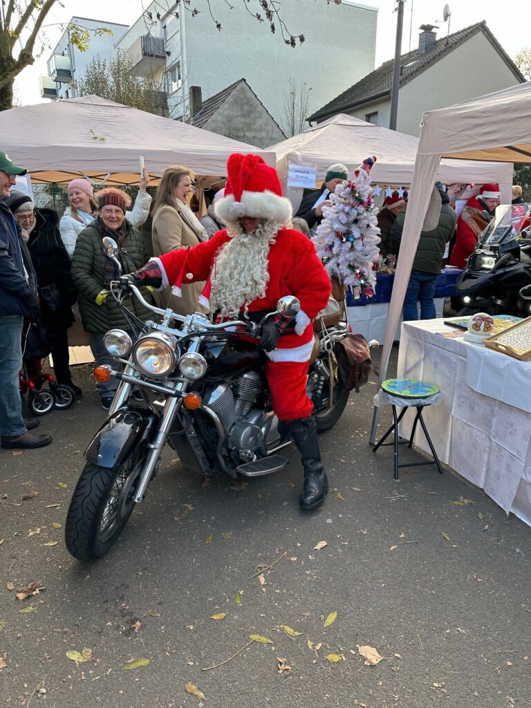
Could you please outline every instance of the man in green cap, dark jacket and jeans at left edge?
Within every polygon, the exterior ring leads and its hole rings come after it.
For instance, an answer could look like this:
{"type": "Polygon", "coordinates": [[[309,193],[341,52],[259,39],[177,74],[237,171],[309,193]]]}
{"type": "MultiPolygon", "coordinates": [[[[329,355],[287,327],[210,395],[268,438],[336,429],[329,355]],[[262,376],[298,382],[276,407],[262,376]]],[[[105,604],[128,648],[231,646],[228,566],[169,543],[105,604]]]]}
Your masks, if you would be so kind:
{"type": "Polygon", "coordinates": [[[38,420],[24,420],[18,389],[24,318],[35,322],[40,308],[31,258],[29,254],[23,258],[25,244],[18,238],[15,218],[4,199],[16,176],[26,172],[0,152],[0,445],[7,450],[33,449],[52,442],[50,435],[28,431],[28,427],[38,426],[38,420]]]}

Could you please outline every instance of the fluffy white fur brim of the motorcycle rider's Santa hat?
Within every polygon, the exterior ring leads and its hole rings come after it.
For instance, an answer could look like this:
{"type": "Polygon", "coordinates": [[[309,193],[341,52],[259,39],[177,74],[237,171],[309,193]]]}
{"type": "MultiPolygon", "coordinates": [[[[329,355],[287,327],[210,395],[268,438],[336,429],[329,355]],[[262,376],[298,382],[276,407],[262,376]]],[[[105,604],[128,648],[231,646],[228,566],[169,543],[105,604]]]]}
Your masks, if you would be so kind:
{"type": "Polygon", "coordinates": [[[268,219],[285,224],[292,217],[292,205],[289,199],[265,190],[264,192],[244,192],[236,202],[234,194],[219,199],[214,205],[216,216],[224,223],[241,217],[268,219]]]}

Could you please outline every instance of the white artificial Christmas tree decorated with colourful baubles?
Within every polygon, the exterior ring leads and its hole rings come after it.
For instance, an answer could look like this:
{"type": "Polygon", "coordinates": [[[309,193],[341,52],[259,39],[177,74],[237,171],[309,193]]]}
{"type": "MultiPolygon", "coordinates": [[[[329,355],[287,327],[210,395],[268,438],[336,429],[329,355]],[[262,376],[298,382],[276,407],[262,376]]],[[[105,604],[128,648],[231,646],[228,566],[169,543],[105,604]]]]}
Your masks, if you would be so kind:
{"type": "Polygon", "coordinates": [[[330,276],[335,275],[352,290],[372,297],[379,259],[377,209],[372,199],[370,169],[376,158],[367,158],[354,172],[352,181],[344,181],[329,195],[332,202],[323,208],[323,220],[314,236],[319,258],[330,276]]]}

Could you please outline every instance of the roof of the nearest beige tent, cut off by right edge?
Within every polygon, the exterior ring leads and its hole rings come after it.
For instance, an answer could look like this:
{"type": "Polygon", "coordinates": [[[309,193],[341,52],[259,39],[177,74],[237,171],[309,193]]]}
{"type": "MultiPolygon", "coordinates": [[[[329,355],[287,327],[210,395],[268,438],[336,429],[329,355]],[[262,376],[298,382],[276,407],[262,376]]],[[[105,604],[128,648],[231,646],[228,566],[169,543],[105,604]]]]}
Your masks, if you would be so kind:
{"type": "Polygon", "coordinates": [[[423,115],[421,155],[531,162],[531,81],[423,115]]]}

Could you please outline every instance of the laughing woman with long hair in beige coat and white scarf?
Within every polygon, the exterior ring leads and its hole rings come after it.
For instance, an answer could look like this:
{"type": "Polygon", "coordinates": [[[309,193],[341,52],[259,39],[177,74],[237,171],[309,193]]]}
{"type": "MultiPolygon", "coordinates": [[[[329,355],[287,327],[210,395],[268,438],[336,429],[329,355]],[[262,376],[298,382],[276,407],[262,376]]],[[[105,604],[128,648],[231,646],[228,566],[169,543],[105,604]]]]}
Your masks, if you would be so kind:
{"type": "MultiPolygon", "coordinates": [[[[188,206],[188,195],[193,192],[194,174],[187,167],[175,166],[164,170],[153,212],[152,236],[155,256],[197,246],[208,236],[188,206]]],[[[171,287],[156,293],[160,307],[171,307],[178,314],[205,312],[198,305],[204,282],[183,285],[183,297],[171,295],[171,287]]]]}

